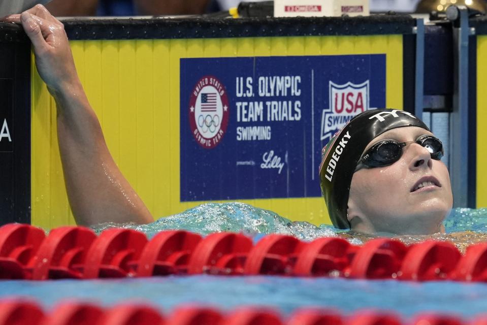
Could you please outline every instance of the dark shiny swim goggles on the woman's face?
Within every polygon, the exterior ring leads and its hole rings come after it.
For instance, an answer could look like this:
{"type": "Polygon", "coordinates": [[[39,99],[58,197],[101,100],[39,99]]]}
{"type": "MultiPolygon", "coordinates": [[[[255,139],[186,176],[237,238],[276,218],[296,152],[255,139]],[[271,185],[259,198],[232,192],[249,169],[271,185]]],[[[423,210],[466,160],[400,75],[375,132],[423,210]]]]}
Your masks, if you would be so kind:
{"type": "Polygon", "coordinates": [[[355,171],[358,171],[365,165],[369,168],[389,166],[401,158],[402,148],[410,143],[417,143],[426,148],[431,158],[440,160],[443,157],[443,144],[438,138],[424,135],[417,138],[415,141],[397,142],[396,140],[386,139],[374,144],[369,150],[360,158],[355,171]]]}

